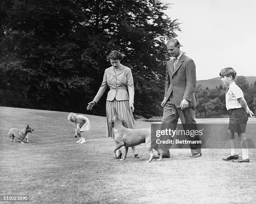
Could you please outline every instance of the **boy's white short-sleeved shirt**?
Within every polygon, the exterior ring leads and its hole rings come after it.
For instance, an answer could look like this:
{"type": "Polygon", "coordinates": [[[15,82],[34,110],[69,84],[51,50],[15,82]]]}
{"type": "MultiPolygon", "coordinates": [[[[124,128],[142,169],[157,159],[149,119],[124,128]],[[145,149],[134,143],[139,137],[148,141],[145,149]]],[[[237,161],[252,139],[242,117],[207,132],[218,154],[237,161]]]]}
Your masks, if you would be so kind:
{"type": "Polygon", "coordinates": [[[226,90],[226,108],[228,110],[235,108],[242,108],[239,98],[243,97],[243,91],[236,85],[235,82],[231,83],[226,90]]]}

